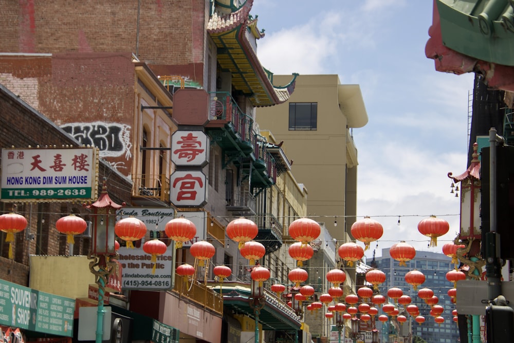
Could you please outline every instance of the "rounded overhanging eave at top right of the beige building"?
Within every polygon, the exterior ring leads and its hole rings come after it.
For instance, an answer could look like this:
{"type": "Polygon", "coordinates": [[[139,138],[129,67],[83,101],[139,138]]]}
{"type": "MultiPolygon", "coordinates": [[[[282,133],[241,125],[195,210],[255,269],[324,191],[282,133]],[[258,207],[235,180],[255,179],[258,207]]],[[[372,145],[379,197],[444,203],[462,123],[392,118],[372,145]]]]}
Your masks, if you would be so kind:
{"type": "Polygon", "coordinates": [[[339,107],[346,116],[348,128],[362,128],[368,123],[368,112],[358,84],[340,84],[337,94],[339,107]]]}

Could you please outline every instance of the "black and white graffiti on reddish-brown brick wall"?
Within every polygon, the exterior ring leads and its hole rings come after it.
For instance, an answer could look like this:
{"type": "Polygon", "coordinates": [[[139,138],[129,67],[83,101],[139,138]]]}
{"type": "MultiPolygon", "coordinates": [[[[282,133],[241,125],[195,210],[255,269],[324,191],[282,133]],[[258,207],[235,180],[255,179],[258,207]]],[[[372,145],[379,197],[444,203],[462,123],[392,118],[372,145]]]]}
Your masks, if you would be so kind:
{"type": "Polygon", "coordinates": [[[81,144],[98,148],[101,157],[119,157],[124,154],[127,160],[132,157],[130,128],[126,124],[103,121],[61,125],[61,129],[81,144]]]}

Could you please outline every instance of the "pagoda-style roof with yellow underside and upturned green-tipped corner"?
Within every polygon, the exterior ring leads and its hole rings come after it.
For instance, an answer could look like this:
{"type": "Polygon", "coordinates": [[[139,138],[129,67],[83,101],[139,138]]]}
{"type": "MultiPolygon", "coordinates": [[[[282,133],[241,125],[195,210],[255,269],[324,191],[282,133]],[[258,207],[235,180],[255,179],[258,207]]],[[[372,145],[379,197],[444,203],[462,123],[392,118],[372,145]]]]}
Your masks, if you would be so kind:
{"type": "Polygon", "coordinates": [[[257,29],[257,18],[250,15],[252,5],[253,0],[247,0],[229,13],[214,11],[207,32],[216,44],[219,65],[232,74],[234,88],[249,97],[253,106],[276,105],[289,99],[296,75],[283,87],[271,83],[272,74],[261,65],[255,51],[255,41],[264,37],[264,32],[257,29]]]}

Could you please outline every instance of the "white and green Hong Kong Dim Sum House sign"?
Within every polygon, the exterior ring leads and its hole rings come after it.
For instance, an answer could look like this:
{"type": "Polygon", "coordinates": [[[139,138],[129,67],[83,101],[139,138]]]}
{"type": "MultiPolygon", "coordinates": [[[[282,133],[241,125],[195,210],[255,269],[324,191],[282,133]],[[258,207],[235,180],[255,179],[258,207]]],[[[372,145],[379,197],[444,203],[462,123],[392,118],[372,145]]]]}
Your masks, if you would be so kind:
{"type": "Polygon", "coordinates": [[[2,149],[2,200],[96,198],[96,148],[2,149]]]}

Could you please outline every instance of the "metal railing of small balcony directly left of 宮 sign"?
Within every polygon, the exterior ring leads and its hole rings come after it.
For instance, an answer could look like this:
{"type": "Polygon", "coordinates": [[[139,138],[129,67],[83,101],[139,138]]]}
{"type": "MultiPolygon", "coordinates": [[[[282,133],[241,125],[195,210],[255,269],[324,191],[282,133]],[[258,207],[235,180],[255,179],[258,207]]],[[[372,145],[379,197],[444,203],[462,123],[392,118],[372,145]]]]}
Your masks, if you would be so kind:
{"type": "Polygon", "coordinates": [[[170,200],[170,179],[165,174],[132,175],[132,195],[170,200]]]}

